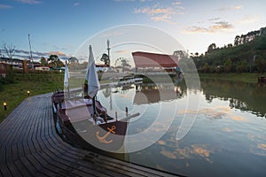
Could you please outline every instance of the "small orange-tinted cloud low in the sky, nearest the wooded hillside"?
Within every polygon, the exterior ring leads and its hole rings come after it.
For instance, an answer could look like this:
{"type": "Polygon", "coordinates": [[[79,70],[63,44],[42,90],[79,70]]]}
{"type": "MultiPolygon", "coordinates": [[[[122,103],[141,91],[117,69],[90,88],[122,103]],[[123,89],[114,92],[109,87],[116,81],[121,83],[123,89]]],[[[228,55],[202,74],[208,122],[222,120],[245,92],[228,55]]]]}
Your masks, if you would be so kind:
{"type": "MultiPolygon", "coordinates": [[[[213,19],[214,20],[214,19],[213,19]]],[[[232,24],[227,21],[215,21],[209,27],[192,26],[186,27],[185,32],[188,33],[217,33],[221,30],[228,30],[233,28],[232,24]]]]}

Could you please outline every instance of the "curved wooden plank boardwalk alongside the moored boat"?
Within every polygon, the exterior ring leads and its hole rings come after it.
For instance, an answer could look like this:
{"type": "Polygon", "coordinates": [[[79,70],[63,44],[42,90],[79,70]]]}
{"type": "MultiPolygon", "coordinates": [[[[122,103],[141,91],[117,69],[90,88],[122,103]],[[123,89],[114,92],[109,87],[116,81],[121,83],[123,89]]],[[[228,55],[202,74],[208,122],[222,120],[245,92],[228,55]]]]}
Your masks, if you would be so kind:
{"type": "Polygon", "coordinates": [[[57,135],[51,94],[28,97],[0,124],[0,176],[173,176],[94,152],[57,135]]]}

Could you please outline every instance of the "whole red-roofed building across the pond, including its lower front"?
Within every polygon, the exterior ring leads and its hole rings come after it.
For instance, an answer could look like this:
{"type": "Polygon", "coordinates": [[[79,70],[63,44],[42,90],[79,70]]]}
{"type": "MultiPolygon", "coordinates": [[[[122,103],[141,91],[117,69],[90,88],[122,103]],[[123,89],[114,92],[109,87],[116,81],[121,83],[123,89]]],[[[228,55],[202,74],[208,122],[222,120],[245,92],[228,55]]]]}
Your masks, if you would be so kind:
{"type": "Polygon", "coordinates": [[[148,53],[142,51],[132,52],[136,72],[176,72],[178,57],[166,54],[148,53]]]}

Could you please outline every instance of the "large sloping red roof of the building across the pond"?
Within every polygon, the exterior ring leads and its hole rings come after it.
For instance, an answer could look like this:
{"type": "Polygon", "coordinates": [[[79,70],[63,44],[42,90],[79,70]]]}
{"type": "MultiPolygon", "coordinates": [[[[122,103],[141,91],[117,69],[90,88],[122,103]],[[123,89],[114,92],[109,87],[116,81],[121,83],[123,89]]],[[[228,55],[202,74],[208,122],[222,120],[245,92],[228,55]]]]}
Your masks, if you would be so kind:
{"type": "Polygon", "coordinates": [[[178,57],[173,55],[136,51],[132,52],[132,56],[136,68],[139,67],[173,68],[178,66],[178,57]]]}

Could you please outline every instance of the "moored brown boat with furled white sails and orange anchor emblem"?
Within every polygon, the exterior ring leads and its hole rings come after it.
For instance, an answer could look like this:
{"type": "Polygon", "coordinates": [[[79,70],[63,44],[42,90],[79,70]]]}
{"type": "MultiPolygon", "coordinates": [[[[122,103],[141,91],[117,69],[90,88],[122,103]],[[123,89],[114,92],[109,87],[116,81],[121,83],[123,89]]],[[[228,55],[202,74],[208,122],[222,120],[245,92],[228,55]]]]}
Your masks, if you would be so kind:
{"type": "MultiPolygon", "coordinates": [[[[65,71],[64,85],[67,88],[67,68],[65,71]]],[[[123,145],[127,120],[139,114],[129,116],[126,113],[126,117],[119,120],[117,116],[111,117],[95,98],[98,89],[98,74],[90,46],[88,71],[83,85],[84,96],[71,98],[69,91],[57,91],[51,96],[57,130],[65,140],[74,145],[85,148],[93,146],[99,150],[115,152],[121,150],[123,145]]]]}

